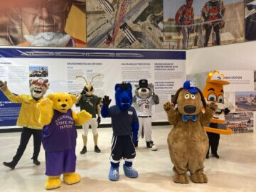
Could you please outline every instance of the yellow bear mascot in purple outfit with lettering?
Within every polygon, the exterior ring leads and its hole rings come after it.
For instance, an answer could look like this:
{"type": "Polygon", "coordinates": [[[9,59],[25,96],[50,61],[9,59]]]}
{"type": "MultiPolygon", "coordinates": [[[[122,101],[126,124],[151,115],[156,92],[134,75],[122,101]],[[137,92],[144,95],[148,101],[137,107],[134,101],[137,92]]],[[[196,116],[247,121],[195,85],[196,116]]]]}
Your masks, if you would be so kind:
{"type": "Polygon", "coordinates": [[[37,107],[40,112],[38,122],[43,126],[42,143],[46,151],[46,189],[60,187],[60,175],[67,184],[78,183],[75,174],[75,146],[78,136],[75,124],[82,125],[92,118],[85,110],[75,113],[71,107],[75,95],[55,92],[41,100],[37,107]]]}

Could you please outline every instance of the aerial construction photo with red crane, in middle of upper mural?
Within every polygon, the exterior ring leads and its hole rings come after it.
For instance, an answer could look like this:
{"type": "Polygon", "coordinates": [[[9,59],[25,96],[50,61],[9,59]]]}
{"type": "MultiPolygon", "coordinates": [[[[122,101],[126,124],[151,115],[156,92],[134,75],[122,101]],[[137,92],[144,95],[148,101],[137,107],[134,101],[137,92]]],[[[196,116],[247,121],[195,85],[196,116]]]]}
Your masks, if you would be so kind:
{"type": "Polygon", "coordinates": [[[87,0],[88,48],[163,48],[163,0],[87,0]]]}

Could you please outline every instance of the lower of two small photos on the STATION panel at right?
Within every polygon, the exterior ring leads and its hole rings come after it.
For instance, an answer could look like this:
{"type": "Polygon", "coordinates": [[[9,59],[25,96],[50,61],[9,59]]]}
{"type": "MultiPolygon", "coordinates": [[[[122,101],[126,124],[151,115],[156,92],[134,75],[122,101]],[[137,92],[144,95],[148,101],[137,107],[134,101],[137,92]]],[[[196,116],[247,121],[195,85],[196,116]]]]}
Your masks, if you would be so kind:
{"type": "Polygon", "coordinates": [[[233,133],[253,132],[253,112],[236,112],[225,115],[227,127],[233,133]]]}

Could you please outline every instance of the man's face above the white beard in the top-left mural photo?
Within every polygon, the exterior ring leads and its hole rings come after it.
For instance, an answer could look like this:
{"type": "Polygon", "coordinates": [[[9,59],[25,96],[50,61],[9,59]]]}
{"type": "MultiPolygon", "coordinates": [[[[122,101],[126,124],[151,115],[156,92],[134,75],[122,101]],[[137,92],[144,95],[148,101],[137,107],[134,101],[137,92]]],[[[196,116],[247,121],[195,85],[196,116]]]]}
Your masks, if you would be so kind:
{"type": "Polygon", "coordinates": [[[63,33],[70,3],[68,0],[33,0],[21,8],[23,33],[63,33]]]}

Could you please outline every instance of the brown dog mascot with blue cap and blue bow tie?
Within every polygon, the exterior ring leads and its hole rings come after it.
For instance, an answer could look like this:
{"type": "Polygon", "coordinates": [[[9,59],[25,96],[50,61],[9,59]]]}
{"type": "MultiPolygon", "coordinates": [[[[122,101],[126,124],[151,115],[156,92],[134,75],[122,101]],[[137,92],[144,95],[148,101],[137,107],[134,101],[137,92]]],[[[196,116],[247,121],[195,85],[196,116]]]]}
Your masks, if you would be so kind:
{"type": "Polygon", "coordinates": [[[171,161],[174,164],[174,182],[188,183],[187,171],[194,183],[207,183],[203,162],[208,151],[208,137],[203,126],[210,123],[217,105],[206,106],[201,90],[193,82],[184,82],[171,102],[164,104],[169,123],[174,125],[168,135],[171,161]],[[174,106],[177,104],[177,108],[174,106]],[[205,113],[202,112],[204,107],[205,113]]]}

